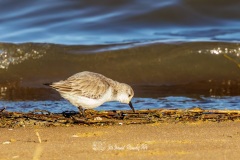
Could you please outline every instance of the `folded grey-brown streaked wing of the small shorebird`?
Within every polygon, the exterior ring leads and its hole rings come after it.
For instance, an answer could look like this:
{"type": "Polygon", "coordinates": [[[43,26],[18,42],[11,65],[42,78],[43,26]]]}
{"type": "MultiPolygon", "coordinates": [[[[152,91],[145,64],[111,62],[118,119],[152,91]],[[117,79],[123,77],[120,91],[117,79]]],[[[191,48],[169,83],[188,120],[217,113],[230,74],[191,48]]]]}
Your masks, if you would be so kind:
{"type": "Polygon", "coordinates": [[[69,77],[65,81],[55,82],[51,86],[60,93],[84,96],[87,98],[101,98],[109,88],[107,78],[94,74],[69,77]]]}

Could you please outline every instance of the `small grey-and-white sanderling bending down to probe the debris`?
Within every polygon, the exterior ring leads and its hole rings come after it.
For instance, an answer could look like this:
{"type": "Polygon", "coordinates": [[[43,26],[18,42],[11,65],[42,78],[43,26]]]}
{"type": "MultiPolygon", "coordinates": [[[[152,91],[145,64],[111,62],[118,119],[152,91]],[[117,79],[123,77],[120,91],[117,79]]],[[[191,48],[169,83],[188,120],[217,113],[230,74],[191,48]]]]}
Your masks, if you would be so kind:
{"type": "Polygon", "coordinates": [[[135,112],[131,103],[133,89],[99,73],[79,72],[66,80],[46,85],[56,89],[63,98],[76,106],[84,117],[84,109],[93,109],[109,101],[129,104],[135,112]]]}

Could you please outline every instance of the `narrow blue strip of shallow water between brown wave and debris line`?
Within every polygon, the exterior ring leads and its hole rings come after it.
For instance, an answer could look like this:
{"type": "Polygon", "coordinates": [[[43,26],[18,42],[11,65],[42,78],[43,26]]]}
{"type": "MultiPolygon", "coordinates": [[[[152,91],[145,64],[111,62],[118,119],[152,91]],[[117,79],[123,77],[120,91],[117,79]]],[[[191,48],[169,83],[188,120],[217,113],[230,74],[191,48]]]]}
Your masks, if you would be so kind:
{"type": "MultiPolygon", "coordinates": [[[[199,107],[205,110],[239,110],[240,97],[162,97],[162,98],[133,98],[132,103],[136,110],[142,109],[190,109],[199,107]]],[[[59,101],[0,101],[0,105],[7,111],[34,112],[46,110],[52,113],[75,111],[78,109],[66,100],[59,101]]],[[[131,110],[128,104],[107,102],[96,110],[131,110]]]]}

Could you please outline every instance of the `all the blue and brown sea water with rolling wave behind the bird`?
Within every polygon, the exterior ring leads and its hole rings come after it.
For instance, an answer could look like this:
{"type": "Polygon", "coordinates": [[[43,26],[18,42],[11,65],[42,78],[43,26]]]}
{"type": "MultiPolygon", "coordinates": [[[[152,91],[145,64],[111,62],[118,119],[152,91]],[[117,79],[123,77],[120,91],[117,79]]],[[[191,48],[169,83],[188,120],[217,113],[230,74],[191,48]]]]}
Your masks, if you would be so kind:
{"type": "Polygon", "coordinates": [[[237,0],[0,0],[0,108],[76,110],[42,84],[88,70],[130,84],[136,109],[240,109],[239,8],[237,0]]]}

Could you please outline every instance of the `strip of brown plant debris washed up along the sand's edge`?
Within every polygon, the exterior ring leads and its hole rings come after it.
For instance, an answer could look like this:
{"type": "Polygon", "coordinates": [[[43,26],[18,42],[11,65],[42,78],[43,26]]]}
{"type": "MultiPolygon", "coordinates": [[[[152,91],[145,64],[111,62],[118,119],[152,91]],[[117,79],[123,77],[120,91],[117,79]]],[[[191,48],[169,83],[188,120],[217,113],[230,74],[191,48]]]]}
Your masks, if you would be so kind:
{"type": "Polygon", "coordinates": [[[0,127],[71,126],[71,125],[123,125],[147,123],[178,123],[197,121],[240,120],[240,110],[151,109],[132,111],[86,110],[87,119],[77,112],[50,113],[36,110],[30,113],[0,110],[0,127]]]}

